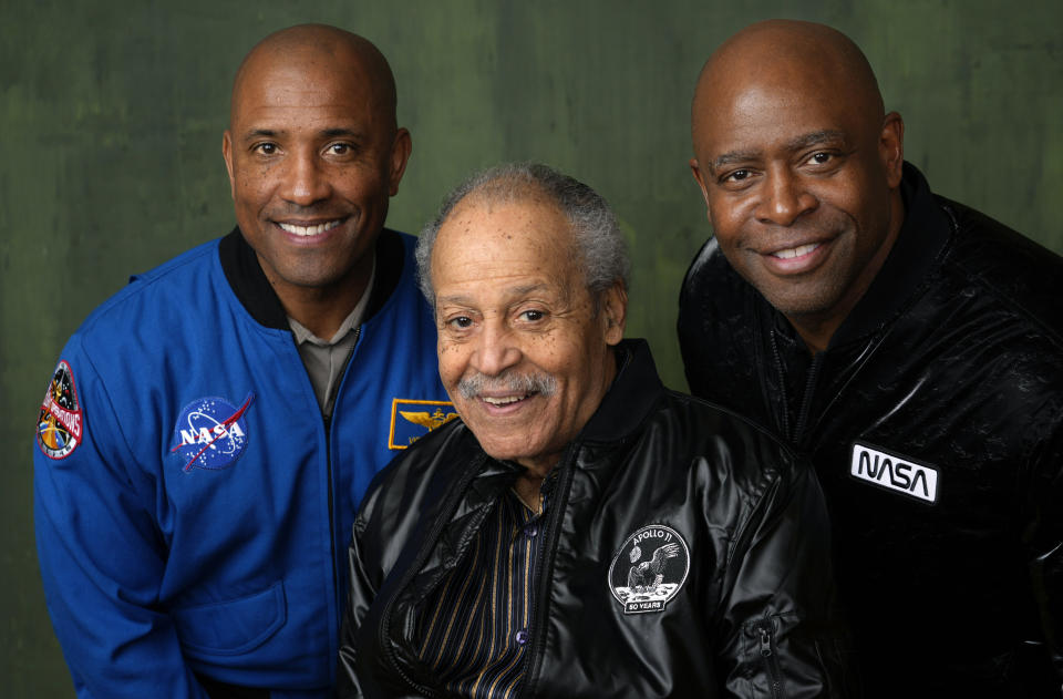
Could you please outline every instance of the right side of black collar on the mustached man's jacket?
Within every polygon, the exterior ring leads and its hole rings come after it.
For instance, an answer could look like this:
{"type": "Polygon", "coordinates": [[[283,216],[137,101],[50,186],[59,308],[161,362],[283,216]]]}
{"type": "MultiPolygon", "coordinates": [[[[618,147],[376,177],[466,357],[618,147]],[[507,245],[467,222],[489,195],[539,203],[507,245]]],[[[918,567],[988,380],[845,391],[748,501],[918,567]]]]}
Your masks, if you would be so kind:
{"type": "Polygon", "coordinates": [[[617,378],[584,425],[579,441],[609,442],[628,436],[641,426],[664,394],[646,340],[621,340],[615,353],[617,378]]]}

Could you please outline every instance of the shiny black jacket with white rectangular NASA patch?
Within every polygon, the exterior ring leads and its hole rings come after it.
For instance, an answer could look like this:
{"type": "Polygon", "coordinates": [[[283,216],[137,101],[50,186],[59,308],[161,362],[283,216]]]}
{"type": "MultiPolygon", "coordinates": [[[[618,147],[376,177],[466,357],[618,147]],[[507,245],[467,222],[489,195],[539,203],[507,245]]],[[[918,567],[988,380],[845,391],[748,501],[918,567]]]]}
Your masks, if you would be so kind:
{"type": "Polygon", "coordinates": [[[680,300],[691,391],[811,458],[869,695],[1059,697],[1063,260],[907,164],[902,193],[815,358],[710,240],[680,300]]]}

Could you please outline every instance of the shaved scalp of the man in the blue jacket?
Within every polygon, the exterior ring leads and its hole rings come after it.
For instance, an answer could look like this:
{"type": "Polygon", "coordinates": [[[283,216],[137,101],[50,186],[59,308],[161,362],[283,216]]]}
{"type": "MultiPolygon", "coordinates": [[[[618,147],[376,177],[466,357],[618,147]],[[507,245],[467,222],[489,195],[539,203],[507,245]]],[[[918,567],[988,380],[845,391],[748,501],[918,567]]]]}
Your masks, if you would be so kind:
{"type": "Polygon", "coordinates": [[[395,79],[384,54],[368,39],[328,24],[299,24],[274,32],[259,41],[244,58],[236,79],[229,111],[231,127],[248,85],[257,85],[278,70],[313,75],[321,70],[351,73],[363,85],[372,111],[392,132],[395,121],[395,79]]]}

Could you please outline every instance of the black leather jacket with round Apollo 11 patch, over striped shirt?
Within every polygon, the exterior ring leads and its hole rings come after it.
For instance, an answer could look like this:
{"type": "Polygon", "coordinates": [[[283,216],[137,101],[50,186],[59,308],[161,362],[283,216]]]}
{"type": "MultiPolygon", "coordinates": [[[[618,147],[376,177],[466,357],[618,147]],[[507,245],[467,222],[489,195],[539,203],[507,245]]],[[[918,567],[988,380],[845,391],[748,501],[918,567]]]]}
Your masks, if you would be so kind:
{"type": "MultiPolygon", "coordinates": [[[[664,390],[644,342],[625,354],[558,465],[520,696],[845,696],[812,470],[749,422],[664,390]],[[683,544],[664,575],[679,587],[663,609],[626,614],[638,603],[616,580],[648,526],[683,544]]],[[[380,474],[351,544],[341,697],[442,696],[414,650],[417,605],[520,470],[454,421],[380,474]]]]}

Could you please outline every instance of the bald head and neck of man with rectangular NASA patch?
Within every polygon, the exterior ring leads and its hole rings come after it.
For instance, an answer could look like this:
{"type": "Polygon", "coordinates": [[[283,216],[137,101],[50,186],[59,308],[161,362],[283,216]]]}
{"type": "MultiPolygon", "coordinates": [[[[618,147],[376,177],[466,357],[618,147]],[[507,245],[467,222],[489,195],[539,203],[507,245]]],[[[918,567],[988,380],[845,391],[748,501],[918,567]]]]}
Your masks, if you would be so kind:
{"type": "Polygon", "coordinates": [[[705,62],[694,155],[720,250],[809,349],[881,268],[904,219],[904,122],[842,32],[757,22],[705,62]]]}

